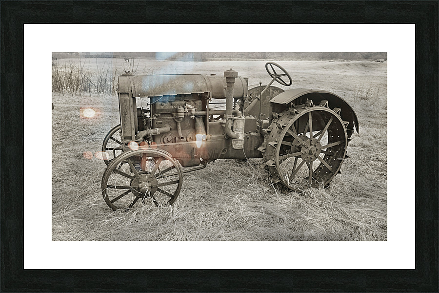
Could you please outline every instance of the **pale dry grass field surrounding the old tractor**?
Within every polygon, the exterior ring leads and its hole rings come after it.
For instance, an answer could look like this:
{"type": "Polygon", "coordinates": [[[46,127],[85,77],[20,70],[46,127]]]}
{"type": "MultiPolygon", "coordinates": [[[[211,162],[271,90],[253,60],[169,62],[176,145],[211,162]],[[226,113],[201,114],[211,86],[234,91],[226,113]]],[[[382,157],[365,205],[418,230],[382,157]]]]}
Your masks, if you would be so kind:
{"type": "MultiPolygon", "coordinates": [[[[117,95],[103,87],[99,90],[98,82],[89,84],[88,90],[67,92],[64,88],[52,94],[52,240],[386,241],[387,64],[274,62],[290,73],[290,88],[334,92],[358,115],[359,134],[354,133],[348,146],[350,159],[344,161],[341,174],[329,188],[284,192],[259,167],[262,159],[217,160],[183,175],[179,198],[172,207],[140,205],[114,212],[100,190],[106,166],[90,154],[100,151],[106,133],[120,123],[117,95]],[[98,114],[81,118],[80,109],[87,107],[98,114]]],[[[124,66],[136,74],[217,75],[232,67],[248,77],[250,85],[271,80],[266,61],[255,60],[126,63],[123,59],[62,59],[54,63],[59,74],[81,68],[83,76],[101,76],[102,84],[111,84],[112,72],[119,75],[124,66]]]]}

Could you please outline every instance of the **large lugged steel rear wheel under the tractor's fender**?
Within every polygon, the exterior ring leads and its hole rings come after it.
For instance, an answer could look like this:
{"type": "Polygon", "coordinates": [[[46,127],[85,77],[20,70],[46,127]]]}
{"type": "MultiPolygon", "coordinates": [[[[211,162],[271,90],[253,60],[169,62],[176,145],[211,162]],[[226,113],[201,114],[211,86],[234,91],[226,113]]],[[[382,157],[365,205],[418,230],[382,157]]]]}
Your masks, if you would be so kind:
{"type": "Polygon", "coordinates": [[[273,182],[300,192],[325,187],[337,175],[348,137],[347,123],[336,111],[299,105],[273,121],[263,155],[273,182]]]}

